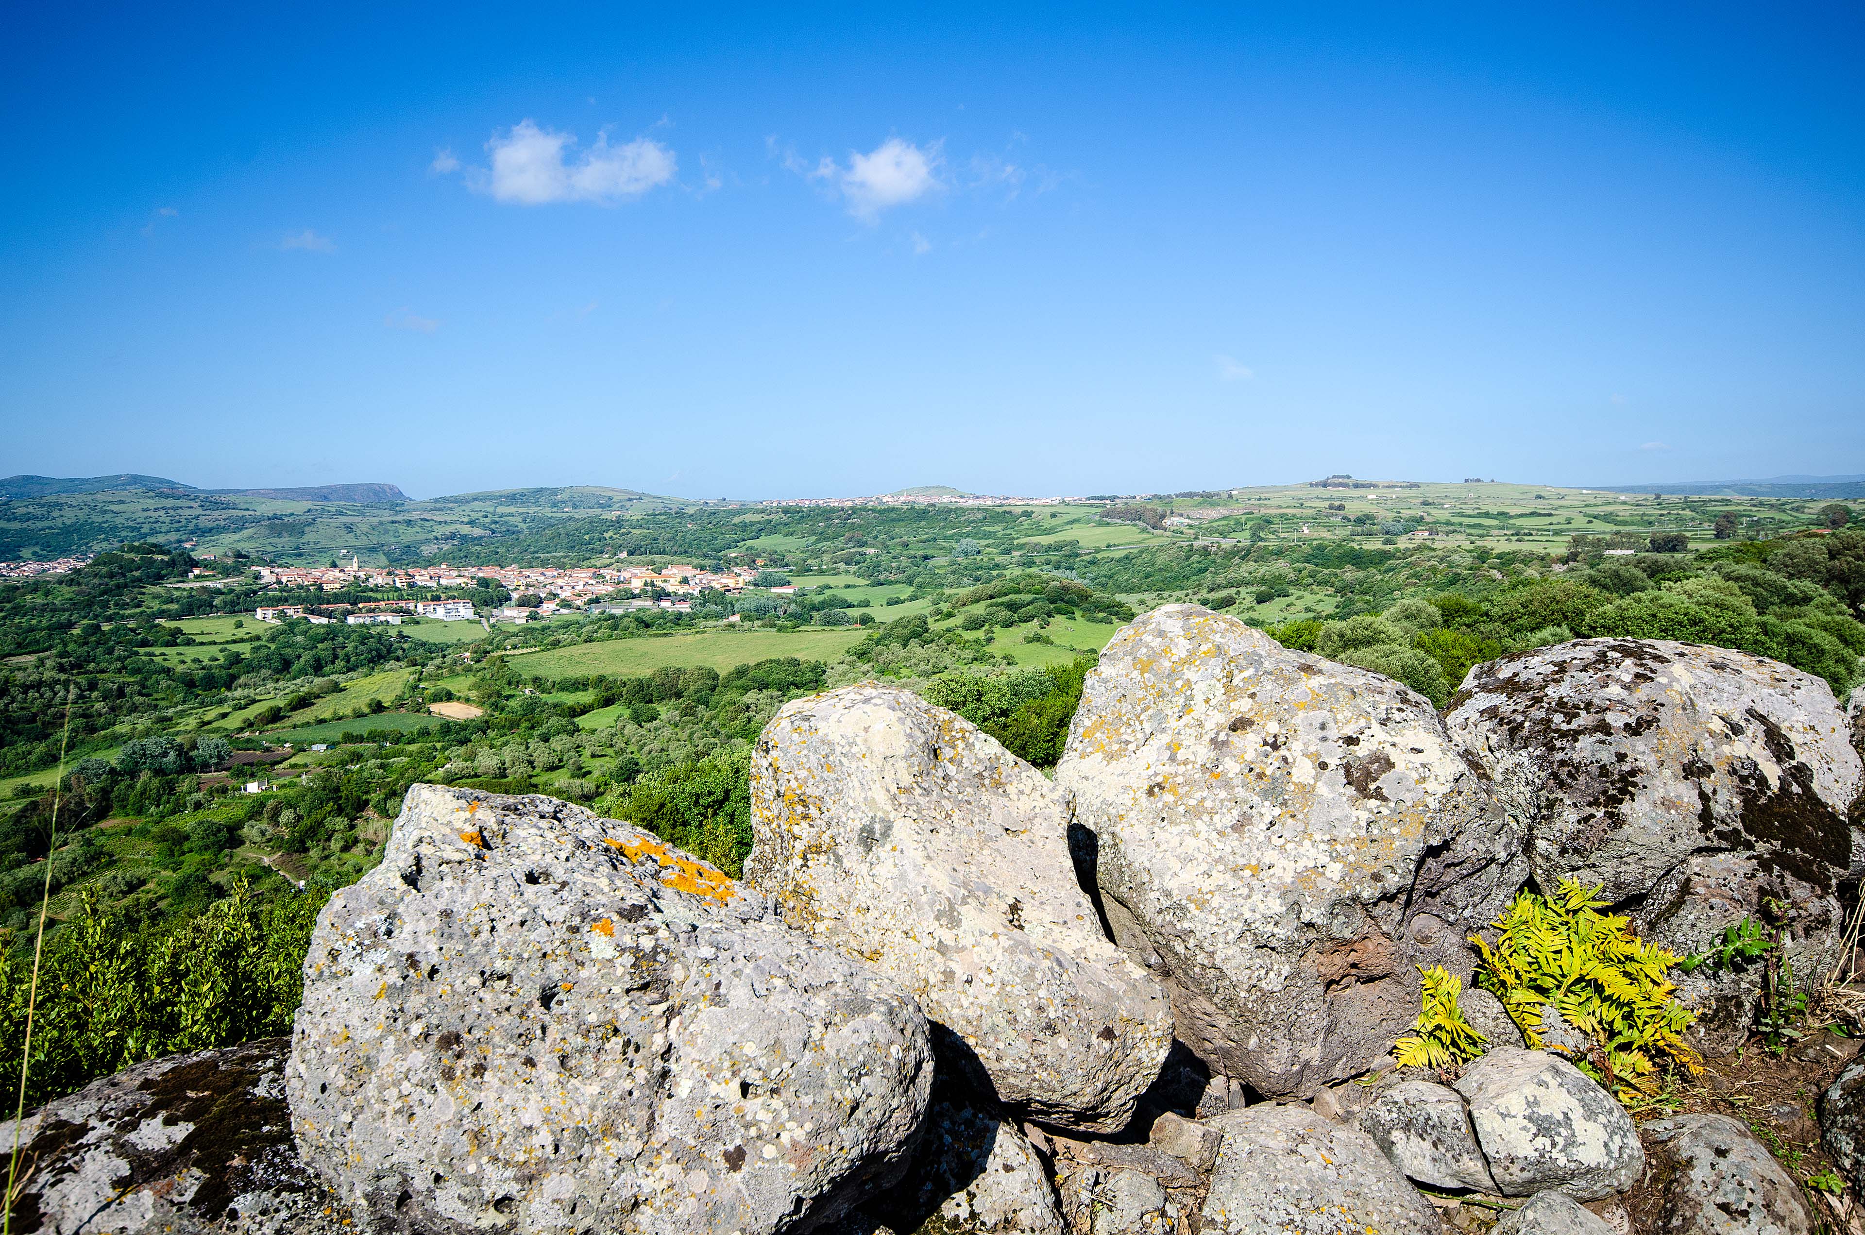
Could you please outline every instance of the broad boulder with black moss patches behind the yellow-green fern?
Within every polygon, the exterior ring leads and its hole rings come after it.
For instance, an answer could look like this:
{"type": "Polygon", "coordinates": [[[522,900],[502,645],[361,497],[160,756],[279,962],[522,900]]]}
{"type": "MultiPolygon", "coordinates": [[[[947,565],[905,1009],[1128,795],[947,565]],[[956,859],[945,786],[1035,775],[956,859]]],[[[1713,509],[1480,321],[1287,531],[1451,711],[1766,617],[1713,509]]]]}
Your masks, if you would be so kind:
{"type": "Polygon", "coordinates": [[[1574,877],[1621,901],[1714,851],[1820,892],[1852,866],[1865,770],[1846,716],[1779,660],[1576,640],[1475,666],[1445,724],[1527,825],[1544,888],[1574,877]]]}

